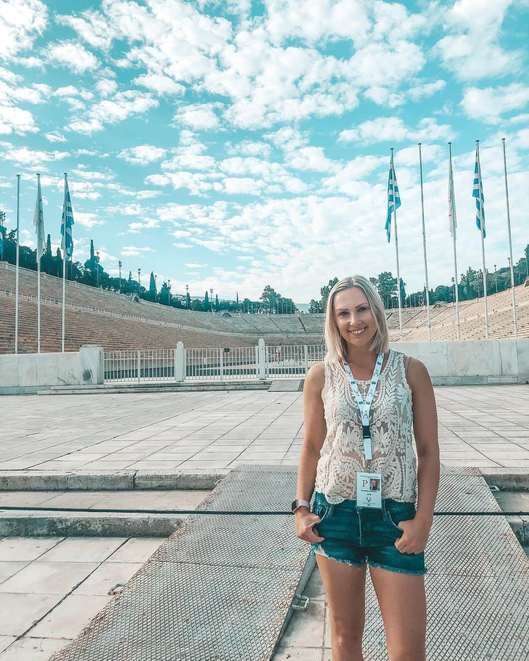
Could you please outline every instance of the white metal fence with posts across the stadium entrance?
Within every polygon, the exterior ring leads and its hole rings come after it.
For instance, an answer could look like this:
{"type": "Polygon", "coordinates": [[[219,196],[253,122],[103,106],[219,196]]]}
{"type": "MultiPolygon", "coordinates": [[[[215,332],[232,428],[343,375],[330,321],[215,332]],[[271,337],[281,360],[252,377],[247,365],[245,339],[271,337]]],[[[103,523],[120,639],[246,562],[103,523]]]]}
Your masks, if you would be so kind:
{"type": "MultiPolygon", "coordinates": [[[[261,340],[263,342],[263,340],[261,340]]],[[[105,382],[251,381],[304,377],[325,344],[282,344],[104,352],[105,382]],[[180,358],[180,364],[179,364],[180,358]]]]}

